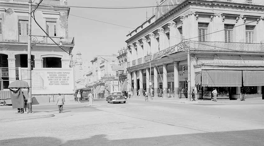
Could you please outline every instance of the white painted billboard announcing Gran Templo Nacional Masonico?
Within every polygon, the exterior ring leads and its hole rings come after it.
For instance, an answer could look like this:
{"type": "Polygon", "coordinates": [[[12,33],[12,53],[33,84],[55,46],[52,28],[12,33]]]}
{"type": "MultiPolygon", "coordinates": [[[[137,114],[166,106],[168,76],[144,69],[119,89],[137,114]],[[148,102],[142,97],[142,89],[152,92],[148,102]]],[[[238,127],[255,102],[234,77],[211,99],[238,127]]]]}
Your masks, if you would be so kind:
{"type": "MultiPolygon", "coordinates": [[[[32,95],[36,94],[73,94],[73,71],[69,69],[32,70],[32,95]]],[[[22,71],[22,79],[27,73],[22,71]],[[23,73],[24,72],[24,73],[23,73]]]]}

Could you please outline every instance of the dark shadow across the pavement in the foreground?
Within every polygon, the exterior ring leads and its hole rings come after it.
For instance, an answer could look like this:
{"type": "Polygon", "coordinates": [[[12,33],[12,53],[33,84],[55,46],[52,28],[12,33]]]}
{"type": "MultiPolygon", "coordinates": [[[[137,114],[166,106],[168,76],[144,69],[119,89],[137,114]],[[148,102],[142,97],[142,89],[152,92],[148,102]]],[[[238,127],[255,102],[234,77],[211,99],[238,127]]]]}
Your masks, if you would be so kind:
{"type": "MultiPolygon", "coordinates": [[[[264,129],[246,130],[246,131],[227,131],[227,132],[210,132],[184,135],[168,135],[159,137],[109,140],[107,135],[94,135],[87,139],[69,140],[62,143],[60,139],[52,137],[30,137],[20,139],[0,140],[1,146],[263,146],[264,129]]],[[[117,137],[118,138],[118,137],[117,137]]],[[[115,139],[115,137],[113,137],[115,139]]]]}

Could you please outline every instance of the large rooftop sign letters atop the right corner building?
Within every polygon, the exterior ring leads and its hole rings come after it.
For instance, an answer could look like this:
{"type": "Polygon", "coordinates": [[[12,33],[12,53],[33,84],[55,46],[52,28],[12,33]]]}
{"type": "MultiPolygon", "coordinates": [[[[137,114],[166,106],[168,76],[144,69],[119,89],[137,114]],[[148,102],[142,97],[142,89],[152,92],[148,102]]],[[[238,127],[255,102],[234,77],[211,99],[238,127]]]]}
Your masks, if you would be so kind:
{"type": "Polygon", "coordinates": [[[171,11],[173,8],[177,7],[178,4],[184,2],[185,0],[165,0],[162,2],[160,7],[156,8],[156,20],[171,11]],[[163,6],[163,7],[162,7],[163,6]]]}

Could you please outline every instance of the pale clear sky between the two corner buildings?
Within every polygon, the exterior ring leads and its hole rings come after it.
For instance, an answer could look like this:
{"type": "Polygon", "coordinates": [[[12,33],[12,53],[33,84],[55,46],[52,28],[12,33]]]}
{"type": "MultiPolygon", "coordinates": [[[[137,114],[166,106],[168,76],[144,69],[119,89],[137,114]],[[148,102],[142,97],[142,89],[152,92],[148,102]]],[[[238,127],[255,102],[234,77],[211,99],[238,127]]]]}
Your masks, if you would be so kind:
{"type": "MultiPolygon", "coordinates": [[[[68,0],[68,6],[136,7],[155,5],[156,0],[68,0]]],[[[155,8],[153,11],[155,14],[155,8]]],[[[133,29],[72,15],[137,28],[146,21],[146,15],[152,16],[152,8],[91,9],[71,7],[68,22],[69,37],[75,39],[73,55],[76,57],[75,54],[80,51],[83,60],[91,61],[96,55],[117,54],[118,50],[126,46],[126,35],[133,29]]]]}

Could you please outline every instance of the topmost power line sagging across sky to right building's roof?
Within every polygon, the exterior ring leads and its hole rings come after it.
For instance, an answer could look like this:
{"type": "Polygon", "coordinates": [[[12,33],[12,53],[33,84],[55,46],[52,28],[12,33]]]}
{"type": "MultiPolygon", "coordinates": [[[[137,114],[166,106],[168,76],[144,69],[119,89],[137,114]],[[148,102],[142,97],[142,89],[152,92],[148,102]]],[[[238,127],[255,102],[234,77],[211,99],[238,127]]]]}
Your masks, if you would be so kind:
{"type": "MultiPolygon", "coordinates": [[[[160,6],[138,6],[138,7],[85,7],[85,6],[65,6],[65,7],[75,7],[75,8],[91,8],[91,9],[139,9],[139,8],[151,8],[151,7],[168,7],[168,6],[180,6],[180,5],[187,5],[187,4],[199,4],[199,3],[208,3],[208,2],[216,2],[220,0],[213,0],[213,1],[204,1],[204,2],[193,2],[193,3],[185,3],[185,4],[176,4],[176,5],[160,5],[160,6]]],[[[41,5],[41,6],[53,6],[53,7],[63,7],[59,5],[41,5]]]]}

